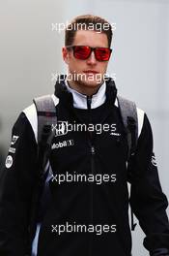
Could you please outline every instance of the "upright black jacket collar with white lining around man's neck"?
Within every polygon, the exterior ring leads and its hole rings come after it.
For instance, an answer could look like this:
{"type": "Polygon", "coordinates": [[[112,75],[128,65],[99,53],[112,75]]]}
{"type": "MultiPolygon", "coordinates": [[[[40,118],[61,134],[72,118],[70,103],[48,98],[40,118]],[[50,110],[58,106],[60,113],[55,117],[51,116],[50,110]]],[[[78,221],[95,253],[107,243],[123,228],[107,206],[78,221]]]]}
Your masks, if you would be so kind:
{"type": "MultiPolygon", "coordinates": [[[[70,88],[66,75],[61,75],[55,84],[55,96],[60,98],[63,103],[77,109],[87,109],[87,95],[77,92],[70,88]]],[[[117,89],[114,80],[108,78],[104,81],[96,94],[92,96],[91,109],[96,109],[105,101],[115,104],[117,89]]]]}

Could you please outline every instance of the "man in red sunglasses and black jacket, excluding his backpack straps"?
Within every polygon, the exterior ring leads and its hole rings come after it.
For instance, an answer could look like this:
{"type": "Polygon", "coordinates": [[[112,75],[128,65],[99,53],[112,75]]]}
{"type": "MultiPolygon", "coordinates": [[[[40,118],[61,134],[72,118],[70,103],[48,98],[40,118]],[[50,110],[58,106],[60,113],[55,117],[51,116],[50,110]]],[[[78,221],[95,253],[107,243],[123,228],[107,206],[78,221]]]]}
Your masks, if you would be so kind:
{"type": "Polygon", "coordinates": [[[111,25],[99,16],[78,16],[66,30],[63,58],[69,72],[57,80],[52,95],[62,126],[52,127],[45,196],[32,240],[39,148],[35,105],[15,122],[0,184],[0,255],[130,256],[130,201],[150,255],[169,256],[168,203],[158,179],[151,125],[137,109],[138,141],[128,160],[117,88],[104,76],[111,39],[111,25]]]}

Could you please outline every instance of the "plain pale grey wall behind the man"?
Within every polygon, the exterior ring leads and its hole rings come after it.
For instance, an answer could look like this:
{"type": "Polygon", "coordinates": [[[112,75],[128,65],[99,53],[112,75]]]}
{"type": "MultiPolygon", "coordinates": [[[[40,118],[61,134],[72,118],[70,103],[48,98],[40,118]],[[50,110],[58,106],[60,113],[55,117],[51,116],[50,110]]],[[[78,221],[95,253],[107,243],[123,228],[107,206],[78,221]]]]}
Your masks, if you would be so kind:
{"type": "MultiPolygon", "coordinates": [[[[116,74],[119,92],[147,112],[154,131],[155,154],[164,192],[169,198],[169,1],[1,1],[0,118],[1,144],[10,142],[18,113],[32,98],[53,92],[52,73],[63,73],[64,34],[52,23],[91,13],[116,22],[108,73],[116,74]]],[[[148,255],[144,234],[133,233],[133,255],[148,255]]]]}

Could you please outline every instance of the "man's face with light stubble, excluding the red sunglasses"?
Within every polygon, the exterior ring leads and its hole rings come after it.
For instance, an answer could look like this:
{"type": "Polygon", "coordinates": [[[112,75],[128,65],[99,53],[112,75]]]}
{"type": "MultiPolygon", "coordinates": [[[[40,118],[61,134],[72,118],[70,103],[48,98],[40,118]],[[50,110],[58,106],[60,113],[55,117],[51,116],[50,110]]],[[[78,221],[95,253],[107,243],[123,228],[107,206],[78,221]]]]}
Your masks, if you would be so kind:
{"type": "MultiPolygon", "coordinates": [[[[76,31],[73,46],[88,46],[91,48],[108,48],[107,36],[91,30],[76,31]]],[[[98,87],[106,73],[108,61],[99,61],[92,51],[88,59],[76,59],[73,50],[63,48],[63,58],[68,64],[69,76],[78,85],[98,87]]],[[[69,78],[69,79],[70,79],[69,78]]]]}

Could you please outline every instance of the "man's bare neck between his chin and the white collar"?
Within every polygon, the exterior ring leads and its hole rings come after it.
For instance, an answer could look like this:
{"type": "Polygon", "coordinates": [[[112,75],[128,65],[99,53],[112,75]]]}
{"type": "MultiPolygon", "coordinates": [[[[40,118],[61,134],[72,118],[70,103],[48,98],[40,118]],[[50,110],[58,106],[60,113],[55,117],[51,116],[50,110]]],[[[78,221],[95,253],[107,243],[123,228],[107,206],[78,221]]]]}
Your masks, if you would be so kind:
{"type": "Polygon", "coordinates": [[[90,87],[87,85],[83,85],[82,83],[77,84],[73,80],[68,81],[68,84],[71,89],[76,90],[77,92],[82,93],[87,96],[92,96],[92,95],[96,94],[99,90],[99,87],[102,85],[102,83],[103,83],[103,81],[101,83],[97,84],[95,87],[92,87],[92,86],[90,87]]]}

